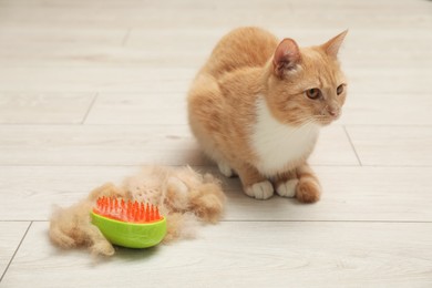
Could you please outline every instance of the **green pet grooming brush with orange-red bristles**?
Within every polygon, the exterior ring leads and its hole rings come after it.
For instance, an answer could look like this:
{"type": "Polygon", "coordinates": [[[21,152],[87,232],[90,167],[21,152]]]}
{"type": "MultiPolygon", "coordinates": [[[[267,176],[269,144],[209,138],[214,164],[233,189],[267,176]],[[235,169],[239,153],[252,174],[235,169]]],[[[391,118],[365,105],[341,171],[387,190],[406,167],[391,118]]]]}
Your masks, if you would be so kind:
{"type": "Polygon", "coordinates": [[[100,197],[91,216],[109,241],[123,247],[152,247],[166,234],[166,219],[148,203],[100,197]]]}

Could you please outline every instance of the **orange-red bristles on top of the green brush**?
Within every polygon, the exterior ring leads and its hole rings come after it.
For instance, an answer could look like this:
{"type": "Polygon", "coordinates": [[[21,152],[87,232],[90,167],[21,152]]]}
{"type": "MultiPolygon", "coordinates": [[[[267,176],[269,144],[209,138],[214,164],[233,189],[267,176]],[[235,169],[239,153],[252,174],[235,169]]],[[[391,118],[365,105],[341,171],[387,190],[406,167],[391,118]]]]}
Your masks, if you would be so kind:
{"type": "Polygon", "coordinates": [[[152,223],[163,218],[158,208],[148,203],[125,202],[105,196],[97,198],[93,212],[106,218],[128,223],[152,223]]]}

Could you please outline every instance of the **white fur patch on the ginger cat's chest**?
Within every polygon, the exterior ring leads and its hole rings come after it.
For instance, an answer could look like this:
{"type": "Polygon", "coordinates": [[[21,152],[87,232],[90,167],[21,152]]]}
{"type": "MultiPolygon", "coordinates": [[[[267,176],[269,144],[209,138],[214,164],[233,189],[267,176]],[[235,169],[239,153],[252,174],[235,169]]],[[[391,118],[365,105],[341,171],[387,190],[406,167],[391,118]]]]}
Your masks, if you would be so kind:
{"type": "Polygon", "coordinates": [[[251,147],[258,162],[257,169],[267,176],[284,172],[290,163],[297,162],[313,148],[319,125],[309,123],[302,126],[282,124],[267,106],[264,96],[257,101],[257,122],[253,127],[251,147]]]}

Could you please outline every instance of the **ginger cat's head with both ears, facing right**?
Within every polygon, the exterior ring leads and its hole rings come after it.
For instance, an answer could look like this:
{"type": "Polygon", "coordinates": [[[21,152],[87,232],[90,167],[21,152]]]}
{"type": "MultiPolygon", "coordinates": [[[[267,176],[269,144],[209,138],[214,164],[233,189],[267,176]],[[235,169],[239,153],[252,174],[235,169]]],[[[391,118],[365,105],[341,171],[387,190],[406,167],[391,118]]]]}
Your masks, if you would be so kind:
{"type": "Polygon", "coordinates": [[[280,122],[328,125],[339,119],[347,80],[337,55],[347,32],[310,48],[299,48],[292,39],[279,43],[268,65],[266,94],[280,122]]]}

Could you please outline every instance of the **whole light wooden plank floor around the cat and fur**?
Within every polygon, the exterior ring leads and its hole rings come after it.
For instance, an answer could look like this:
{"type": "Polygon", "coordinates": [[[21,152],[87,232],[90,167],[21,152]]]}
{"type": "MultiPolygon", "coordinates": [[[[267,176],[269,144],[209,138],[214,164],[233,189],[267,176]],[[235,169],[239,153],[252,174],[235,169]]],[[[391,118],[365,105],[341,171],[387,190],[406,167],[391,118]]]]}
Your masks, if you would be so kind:
{"type": "Polygon", "coordinates": [[[432,2],[0,0],[0,287],[432,287],[432,2]],[[247,198],[195,240],[95,260],[47,237],[140,165],[215,171],[185,94],[216,41],[260,25],[300,45],[349,28],[343,117],[311,163],[318,204],[247,198]]]}

